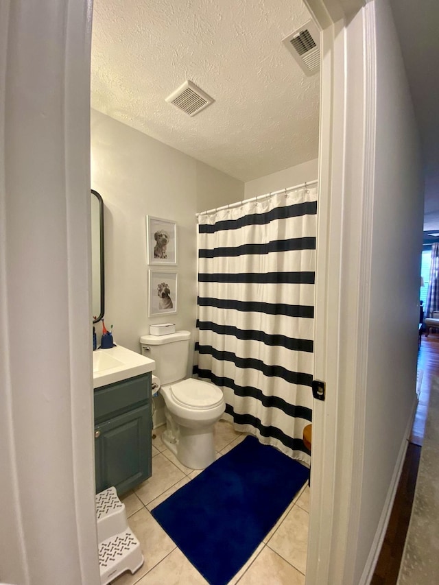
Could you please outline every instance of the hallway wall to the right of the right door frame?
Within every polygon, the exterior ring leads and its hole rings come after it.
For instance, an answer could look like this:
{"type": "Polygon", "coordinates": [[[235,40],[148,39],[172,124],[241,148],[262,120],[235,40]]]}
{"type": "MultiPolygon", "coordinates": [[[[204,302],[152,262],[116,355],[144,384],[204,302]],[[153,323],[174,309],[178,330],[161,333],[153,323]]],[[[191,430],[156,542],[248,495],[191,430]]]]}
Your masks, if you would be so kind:
{"type": "Polygon", "coordinates": [[[418,133],[392,13],[387,0],[375,0],[366,9],[375,10],[377,119],[355,583],[360,582],[413,414],[423,237],[418,133]]]}

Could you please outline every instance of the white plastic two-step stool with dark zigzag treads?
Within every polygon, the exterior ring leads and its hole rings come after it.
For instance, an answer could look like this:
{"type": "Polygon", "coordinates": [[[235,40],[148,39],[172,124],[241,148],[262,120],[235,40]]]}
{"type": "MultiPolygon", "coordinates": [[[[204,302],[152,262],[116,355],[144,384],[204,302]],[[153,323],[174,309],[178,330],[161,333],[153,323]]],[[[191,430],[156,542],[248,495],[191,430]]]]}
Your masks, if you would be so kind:
{"type": "Polygon", "coordinates": [[[125,504],[117,497],[116,488],[96,495],[96,517],[101,585],[107,585],[124,571],[140,569],[143,554],[128,527],[125,504]]]}

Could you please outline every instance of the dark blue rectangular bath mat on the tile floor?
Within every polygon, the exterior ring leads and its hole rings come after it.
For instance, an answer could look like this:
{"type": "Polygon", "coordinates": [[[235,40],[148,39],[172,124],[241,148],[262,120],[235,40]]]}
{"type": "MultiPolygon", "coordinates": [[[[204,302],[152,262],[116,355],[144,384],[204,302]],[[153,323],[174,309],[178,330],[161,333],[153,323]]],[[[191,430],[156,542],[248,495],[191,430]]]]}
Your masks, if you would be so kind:
{"type": "Polygon", "coordinates": [[[224,585],[308,476],[305,466],[249,436],[151,513],[211,585],[224,585]]]}

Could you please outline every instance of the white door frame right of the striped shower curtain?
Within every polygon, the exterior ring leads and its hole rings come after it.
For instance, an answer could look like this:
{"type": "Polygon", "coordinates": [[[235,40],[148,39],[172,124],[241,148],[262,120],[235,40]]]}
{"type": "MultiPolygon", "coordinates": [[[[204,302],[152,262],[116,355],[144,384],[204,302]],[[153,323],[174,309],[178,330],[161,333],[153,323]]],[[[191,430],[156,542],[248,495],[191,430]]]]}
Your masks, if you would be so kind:
{"type": "Polygon", "coordinates": [[[306,584],[347,585],[366,431],[375,28],[364,1],[304,1],[321,31],[314,378],[326,383],[326,400],[313,401],[306,584]]]}

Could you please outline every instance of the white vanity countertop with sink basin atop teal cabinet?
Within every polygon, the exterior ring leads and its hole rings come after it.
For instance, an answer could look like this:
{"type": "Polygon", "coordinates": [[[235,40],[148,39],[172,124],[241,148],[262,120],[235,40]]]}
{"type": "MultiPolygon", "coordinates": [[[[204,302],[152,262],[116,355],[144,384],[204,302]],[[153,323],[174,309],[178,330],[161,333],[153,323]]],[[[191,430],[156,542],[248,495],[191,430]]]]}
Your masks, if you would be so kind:
{"type": "Polygon", "coordinates": [[[154,359],[122,346],[97,349],[93,352],[93,388],[152,372],[155,367],[154,359]]]}

